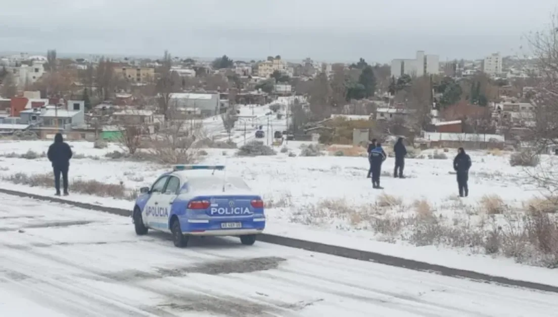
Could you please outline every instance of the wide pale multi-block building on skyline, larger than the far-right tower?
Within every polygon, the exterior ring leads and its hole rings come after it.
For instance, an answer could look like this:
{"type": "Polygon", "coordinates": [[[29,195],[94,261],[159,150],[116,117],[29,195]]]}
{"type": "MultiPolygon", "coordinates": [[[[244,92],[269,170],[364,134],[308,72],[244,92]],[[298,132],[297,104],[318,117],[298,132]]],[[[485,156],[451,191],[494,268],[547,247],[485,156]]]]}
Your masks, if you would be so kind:
{"type": "Polygon", "coordinates": [[[413,60],[396,59],[391,61],[391,75],[400,77],[437,75],[440,73],[440,57],[437,55],[425,55],[424,51],[417,51],[413,60]]]}

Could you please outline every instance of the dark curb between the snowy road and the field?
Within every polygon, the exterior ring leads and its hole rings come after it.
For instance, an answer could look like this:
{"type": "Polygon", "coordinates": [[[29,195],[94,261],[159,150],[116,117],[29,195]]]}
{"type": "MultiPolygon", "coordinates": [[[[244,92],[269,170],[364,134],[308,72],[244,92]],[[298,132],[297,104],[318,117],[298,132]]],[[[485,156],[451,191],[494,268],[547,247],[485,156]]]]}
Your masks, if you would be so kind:
{"type": "MultiPolygon", "coordinates": [[[[42,200],[42,201],[56,202],[59,204],[71,205],[83,209],[108,212],[109,214],[114,214],[119,216],[129,217],[132,214],[132,212],[129,210],[88,204],[85,202],[70,201],[70,200],[65,200],[57,197],[36,195],[27,192],[0,189],[0,193],[19,196],[19,197],[28,197],[28,198],[42,200]]],[[[404,259],[402,257],[384,255],[376,252],[349,249],[348,247],[328,245],[320,242],[306,241],[306,240],[294,239],[290,237],[284,237],[284,236],[278,236],[272,234],[260,234],[258,236],[258,240],[270,244],[294,247],[296,249],[303,249],[303,250],[318,252],[322,254],[341,256],[353,260],[370,261],[377,264],[395,266],[397,268],[405,268],[405,269],[415,270],[415,271],[424,271],[427,273],[435,273],[443,276],[451,276],[453,278],[464,278],[464,279],[480,281],[484,283],[496,283],[503,286],[514,286],[519,288],[558,293],[558,286],[508,279],[508,278],[503,278],[502,276],[493,276],[493,275],[488,275],[483,273],[477,273],[475,271],[454,269],[454,268],[449,268],[448,266],[404,259]]]]}

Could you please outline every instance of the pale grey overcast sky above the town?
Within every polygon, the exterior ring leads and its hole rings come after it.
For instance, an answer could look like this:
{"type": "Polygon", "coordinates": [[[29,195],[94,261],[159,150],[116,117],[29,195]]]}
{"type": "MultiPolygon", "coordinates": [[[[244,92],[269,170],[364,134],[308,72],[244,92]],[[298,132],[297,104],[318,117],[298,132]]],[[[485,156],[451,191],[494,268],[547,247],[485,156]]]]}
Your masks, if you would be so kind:
{"type": "Polygon", "coordinates": [[[370,62],[512,55],[556,0],[4,0],[0,52],[370,62]]]}

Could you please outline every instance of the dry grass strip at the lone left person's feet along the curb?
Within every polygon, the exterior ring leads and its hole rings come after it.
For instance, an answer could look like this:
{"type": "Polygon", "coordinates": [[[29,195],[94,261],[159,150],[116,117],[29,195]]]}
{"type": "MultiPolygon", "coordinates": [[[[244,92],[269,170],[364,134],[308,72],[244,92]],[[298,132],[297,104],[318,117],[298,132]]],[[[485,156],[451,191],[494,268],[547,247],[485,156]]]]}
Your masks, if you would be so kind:
{"type": "MultiPolygon", "coordinates": [[[[4,176],[2,177],[2,180],[30,187],[54,187],[54,176],[52,176],[52,174],[27,175],[17,173],[10,176],[4,176]]],[[[133,200],[135,198],[134,192],[126,189],[122,182],[121,184],[105,184],[94,180],[73,180],[70,181],[69,187],[71,192],[79,194],[127,200],[133,200]]]]}

